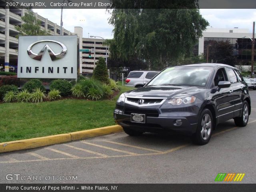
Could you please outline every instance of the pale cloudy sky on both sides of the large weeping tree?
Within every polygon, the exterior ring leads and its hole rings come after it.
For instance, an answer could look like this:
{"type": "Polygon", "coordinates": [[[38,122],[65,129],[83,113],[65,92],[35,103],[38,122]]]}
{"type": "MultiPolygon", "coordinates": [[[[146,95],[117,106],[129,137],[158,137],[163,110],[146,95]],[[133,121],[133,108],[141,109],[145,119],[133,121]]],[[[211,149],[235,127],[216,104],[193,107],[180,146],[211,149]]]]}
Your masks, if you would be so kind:
{"type": "MultiPolygon", "coordinates": [[[[40,16],[60,25],[60,9],[34,9],[40,16]]],[[[252,23],[256,21],[256,9],[200,9],[202,16],[212,28],[246,28],[252,32],[252,23]]],[[[75,26],[83,28],[83,37],[101,36],[113,38],[113,26],[108,24],[110,14],[105,9],[64,9],[63,26],[74,32],[75,26]]]]}

